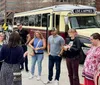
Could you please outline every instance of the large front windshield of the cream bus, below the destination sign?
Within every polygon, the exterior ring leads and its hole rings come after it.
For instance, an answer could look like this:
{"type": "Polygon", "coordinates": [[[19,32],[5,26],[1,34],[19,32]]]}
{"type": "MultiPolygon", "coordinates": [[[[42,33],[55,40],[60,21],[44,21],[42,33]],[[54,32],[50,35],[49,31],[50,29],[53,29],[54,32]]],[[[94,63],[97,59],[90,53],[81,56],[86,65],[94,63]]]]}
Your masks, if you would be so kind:
{"type": "Polygon", "coordinates": [[[99,23],[96,21],[95,16],[73,16],[69,17],[71,28],[74,29],[86,29],[86,28],[98,28],[99,23]]]}

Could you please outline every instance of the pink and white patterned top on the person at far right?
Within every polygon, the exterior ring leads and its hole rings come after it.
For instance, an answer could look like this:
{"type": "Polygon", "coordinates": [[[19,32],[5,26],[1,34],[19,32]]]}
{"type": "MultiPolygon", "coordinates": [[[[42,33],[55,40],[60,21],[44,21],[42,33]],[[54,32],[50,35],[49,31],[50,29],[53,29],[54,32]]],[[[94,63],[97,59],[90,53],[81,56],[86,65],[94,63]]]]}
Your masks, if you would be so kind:
{"type": "Polygon", "coordinates": [[[87,79],[93,80],[98,64],[100,64],[100,47],[91,47],[87,52],[82,75],[87,79]]]}

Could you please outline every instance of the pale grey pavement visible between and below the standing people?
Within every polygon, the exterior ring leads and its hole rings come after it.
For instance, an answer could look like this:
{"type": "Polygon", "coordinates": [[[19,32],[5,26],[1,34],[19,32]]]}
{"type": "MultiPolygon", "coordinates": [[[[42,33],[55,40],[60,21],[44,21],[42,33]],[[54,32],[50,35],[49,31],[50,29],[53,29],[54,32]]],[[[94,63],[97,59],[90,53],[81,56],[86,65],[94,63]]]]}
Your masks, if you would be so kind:
{"type": "MultiPolygon", "coordinates": [[[[44,54],[44,59],[43,59],[43,64],[42,64],[42,76],[41,80],[37,81],[37,65],[35,69],[35,77],[33,79],[28,79],[29,73],[22,71],[22,85],[46,85],[45,82],[48,79],[48,56],[47,53],[44,54]]],[[[29,57],[29,68],[31,67],[31,57],[29,57]]],[[[79,77],[80,77],[80,83],[83,83],[83,77],[82,77],[82,68],[83,65],[80,65],[79,67],[79,77]]],[[[55,67],[54,67],[54,76],[55,76],[55,67]]],[[[54,81],[51,84],[48,85],[54,85],[54,81]]],[[[61,63],[61,76],[60,76],[60,81],[59,85],[70,85],[69,84],[69,79],[68,79],[68,72],[66,68],[66,61],[62,59],[61,63]]]]}

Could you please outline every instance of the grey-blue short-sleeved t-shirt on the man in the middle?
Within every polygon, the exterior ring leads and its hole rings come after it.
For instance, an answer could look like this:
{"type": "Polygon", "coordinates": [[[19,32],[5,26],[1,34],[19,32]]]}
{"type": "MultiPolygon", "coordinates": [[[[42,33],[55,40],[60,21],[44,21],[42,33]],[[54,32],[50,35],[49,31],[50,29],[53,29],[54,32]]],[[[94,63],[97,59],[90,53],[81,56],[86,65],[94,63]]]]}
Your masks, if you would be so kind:
{"type": "Polygon", "coordinates": [[[61,46],[64,45],[65,41],[59,35],[51,35],[48,38],[48,43],[50,44],[50,54],[53,56],[58,56],[61,51],[61,46]]]}

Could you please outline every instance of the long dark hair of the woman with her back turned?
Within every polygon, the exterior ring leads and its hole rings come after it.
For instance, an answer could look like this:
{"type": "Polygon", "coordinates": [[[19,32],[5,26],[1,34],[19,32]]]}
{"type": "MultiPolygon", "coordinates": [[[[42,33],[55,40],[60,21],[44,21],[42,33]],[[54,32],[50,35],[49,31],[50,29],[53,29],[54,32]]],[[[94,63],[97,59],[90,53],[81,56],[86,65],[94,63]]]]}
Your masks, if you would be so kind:
{"type": "Polygon", "coordinates": [[[18,32],[14,31],[11,33],[8,41],[9,47],[16,47],[20,45],[20,35],[18,32]]]}

